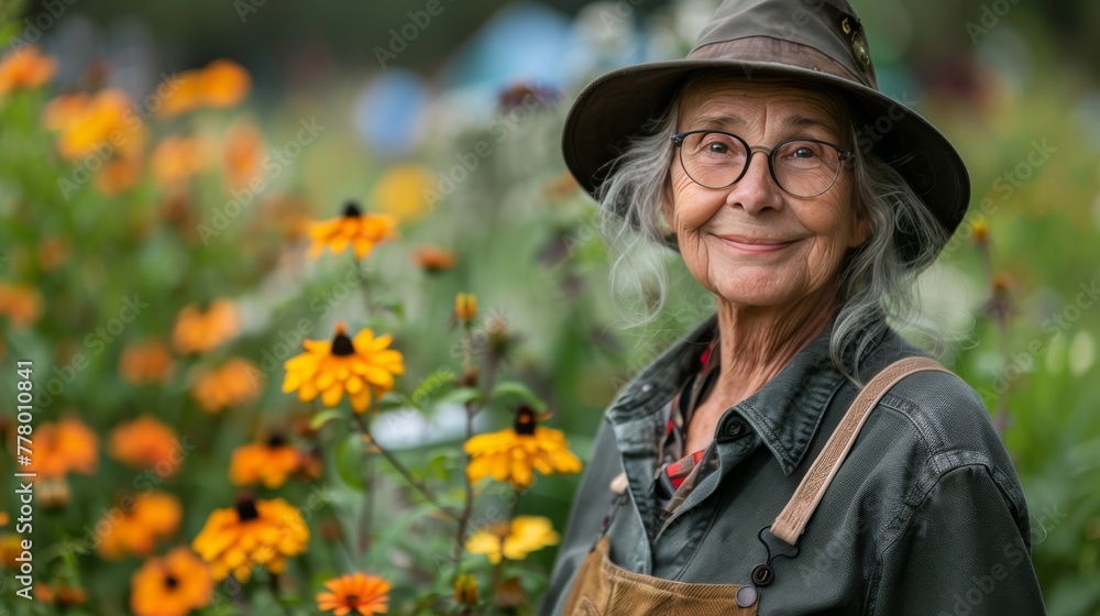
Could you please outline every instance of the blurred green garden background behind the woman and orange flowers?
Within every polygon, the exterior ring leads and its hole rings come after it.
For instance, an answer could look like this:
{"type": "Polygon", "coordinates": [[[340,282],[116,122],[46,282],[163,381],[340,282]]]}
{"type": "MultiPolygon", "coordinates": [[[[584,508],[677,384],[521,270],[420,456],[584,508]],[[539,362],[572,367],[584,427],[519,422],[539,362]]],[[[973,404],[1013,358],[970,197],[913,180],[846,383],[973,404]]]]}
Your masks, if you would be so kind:
{"type": "MultiPolygon", "coordinates": [[[[945,362],[982,394],[991,414],[1007,417],[1004,440],[1032,509],[1034,562],[1049,613],[1100,615],[1100,307],[1085,292],[1100,283],[1100,3],[854,4],[882,90],[941,128],[970,168],[971,215],[922,282],[928,318],[947,342],[945,362]],[[988,229],[988,258],[974,241],[976,224],[988,229]]],[[[36,42],[58,64],[43,88],[8,95],[0,106],[0,283],[34,287],[42,298],[26,327],[0,316],[3,370],[31,358],[48,378],[82,351],[89,366],[37,421],[75,411],[106,441],[119,421],[152,413],[198,443],[201,453],[165,485],[186,502],[180,542],[211,509],[232,503],[224,468],[233,448],[308,411],[279,392],[278,364],[289,355],[277,344],[301,319],[315,339],[327,339],[338,319],[392,331],[406,355],[403,387],[413,392],[441,366],[461,373],[449,318],[454,294],[474,293],[483,339],[499,333],[494,318],[506,322],[502,376],[546,399],[551,425],[586,459],[601,410],[618,387],[711,311],[712,300],[671,257],[681,292],[657,322],[623,327],[592,226],[594,205],[569,183],[558,143],[569,101],[587,80],[625,64],[682,57],[716,2],[440,0],[436,15],[428,6],[54,0],[4,9],[10,40],[36,42]],[[91,184],[73,194],[59,187],[57,178],[72,177],[74,166],[42,127],[48,100],[105,87],[147,100],[165,76],[218,58],[251,75],[242,105],[153,119],[143,129],[146,153],[172,134],[217,144],[204,154],[210,164],[190,180],[186,198],[144,172],[113,194],[91,184]],[[318,138],[288,150],[304,122],[320,127],[318,138]],[[233,172],[227,143],[242,127],[262,135],[252,156],[297,152],[277,172],[255,172],[261,190],[226,182],[233,172]],[[490,144],[487,154],[479,154],[480,142],[490,144]],[[364,262],[373,306],[386,309],[370,312],[359,284],[341,286],[346,257],[304,255],[302,220],[337,216],[346,199],[402,219],[403,239],[364,262]],[[234,201],[240,207],[229,206],[234,201]],[[217,233],[207,238],[204,226],[217,233]],[[427,272],[414,258],[422,245],[453,251],[457,264],[427,272]],[[89,353],[88,333],[132,294],[151,305],[147,312],[89,353]],[[199,356],[177,353],[170,377],[156,386],[120,376],[129,345],[167,340],[184,306],[217,297],[241,307],[231,341],[199,356]],[[261,366],[260,393],[208,415],[188,393],[195,371],[230,356],[261,366]]],[[[12,383],[0,378],[6,441],[13,438],[12,383]]],[[[440,404],[381,416],[376,436],[414,461],[442,455],[453,470],[461,429],[451,411],[440,404]]],[[[504,427],[508,417],[496,405],[480,429],[504,427]]],[[[341,441],[343,435],[327,429],[309,438],[324,447],[341,441]]],[[[327,451],[327,466],[339,465],[337,458],[327,451]]],[[[41,544],[79,536],[130,484],[132,470],[106,453],[100,459],[96,475],[74,476],[67,507],[40,514],[41,544]]],[[[8,482],[0,512],[10,513],[12,459],[0,461],[8,482]]],[[[318,520],[344,519],[353,498],[340,482],[348,477],[326,476],[322,484],[340,495],[318,520]]],[[[539,480],[520,512],[549,516],[562,529],[576,481],[539,480]]],[[[411,514],[376,527],[381,547],[369,564],[407,585],[431,586],[424,568],[394,563],[430,563],[432,550],[447,544],[410,538],[409,529],[422,530],[424,510],[394,476],[387,482],[391,496],[376,502],[400,503],[395,509],[411,514]]],[[[302,501],[310,484],[278,493],[302,501]]],[[[295,592],[305,597],[299,609],[310,609],[319,581],[341,570],[336,547],[315,546],[294,570],[295,592]]],[[[532,554],[536,571],[544,571],[552,552],[532,554]]],[[[88,588],[89,603],[76,609],[124,613],[127,580],[140,561],[100,566],[97,557],[85,559],[40,571],[88,588]],[[100,594],[97,584],[113,590],[100,594]]],[[[525,579],[530,593],[541,583],[525,579]]],[[[3,602],[9,592],[0,591],[3,602]]]]}

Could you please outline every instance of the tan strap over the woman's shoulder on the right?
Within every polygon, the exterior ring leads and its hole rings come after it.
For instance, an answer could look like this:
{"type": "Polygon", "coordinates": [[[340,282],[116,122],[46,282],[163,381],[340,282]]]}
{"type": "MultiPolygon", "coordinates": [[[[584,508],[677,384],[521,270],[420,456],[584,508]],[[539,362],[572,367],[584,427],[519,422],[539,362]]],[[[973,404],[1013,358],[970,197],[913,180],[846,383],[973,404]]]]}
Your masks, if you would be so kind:
{"type": "Polygon", "coordinates": [[[848,411],[845,413],[840,424],[829,436],[825,448],[806,471],[806,475],[802,477],[802,483],[794,491],[794,496],[772,522],[772,535],[791,546],[798,543],[799,537],[806,528],[806,522],[810,521],[810,516],[814,515],[814,509],[817,508],[822,496],[828,490],[833,476],[840,469],[851,444],[856,442],[856,437],[859,436],[864,421],[879,404],[882,395],[910,374],[928,370],[952,373],[934,360],[909,358],[890,364],[875,375],[875,378],[859,392],[851,406],[848,407],[848,411]]]}

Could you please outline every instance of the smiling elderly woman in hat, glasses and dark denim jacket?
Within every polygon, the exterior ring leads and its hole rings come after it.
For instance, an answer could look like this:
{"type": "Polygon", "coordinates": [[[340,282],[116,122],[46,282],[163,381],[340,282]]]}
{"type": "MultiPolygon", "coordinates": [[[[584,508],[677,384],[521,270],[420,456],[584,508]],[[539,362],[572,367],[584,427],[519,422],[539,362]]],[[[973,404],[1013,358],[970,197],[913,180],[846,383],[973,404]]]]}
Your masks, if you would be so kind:
{"type": "Polygon", "coordinates": [[[1044,613],[986,408],[887,324],[966,167],[847,2],[724,2],[688,59],[591,84],[563,146],[717,311],[607,410],[543,614],[1044,613]]]}

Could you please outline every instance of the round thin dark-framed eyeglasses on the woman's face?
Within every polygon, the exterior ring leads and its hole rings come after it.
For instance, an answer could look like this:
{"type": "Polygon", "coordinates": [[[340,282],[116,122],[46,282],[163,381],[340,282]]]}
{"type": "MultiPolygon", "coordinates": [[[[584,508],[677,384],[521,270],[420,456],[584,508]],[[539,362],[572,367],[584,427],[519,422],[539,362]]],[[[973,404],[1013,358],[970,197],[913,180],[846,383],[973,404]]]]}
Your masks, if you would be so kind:
{"type": "Polygon", "coordinates": [[[771,150],[749,146],[744,139],[723,131],[688,131],[672,135],[680,148],[680,165],[688,177],[706,188],[737,184],[749,169],[752,154],[768,155],[768,169],[776,184],[803,199],[824,195],[840,176],[840,167],[853,152],[816,139],[789,139],[771,150]]]}

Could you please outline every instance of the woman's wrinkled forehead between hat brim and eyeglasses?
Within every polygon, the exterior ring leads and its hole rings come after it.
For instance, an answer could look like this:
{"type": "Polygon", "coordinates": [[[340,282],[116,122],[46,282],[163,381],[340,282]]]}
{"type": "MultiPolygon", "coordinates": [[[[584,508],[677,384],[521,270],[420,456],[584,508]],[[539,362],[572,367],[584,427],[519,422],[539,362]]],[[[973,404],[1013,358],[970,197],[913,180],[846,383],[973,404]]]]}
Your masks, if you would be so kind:
{"type": "Polygon", "coordinates": [[[703,73],[689,77],[680,88],[678,130],[701,116],[734,112],[751,121],[757,111],[780,112],[825,125],[838,139],[851,134],[851,112],[844,99],[825,88],[783,78],[745,79],[736,73],[703,73]]]}

